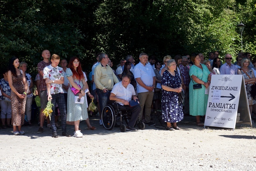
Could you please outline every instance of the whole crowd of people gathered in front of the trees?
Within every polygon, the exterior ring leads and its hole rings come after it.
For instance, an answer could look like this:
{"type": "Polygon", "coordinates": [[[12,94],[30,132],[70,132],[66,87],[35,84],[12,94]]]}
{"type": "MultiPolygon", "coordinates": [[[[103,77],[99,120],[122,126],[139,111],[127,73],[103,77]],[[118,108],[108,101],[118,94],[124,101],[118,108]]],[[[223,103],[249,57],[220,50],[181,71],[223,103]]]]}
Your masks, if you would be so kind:
{"type": "MultiPolygon", "coordinates": [[[[89,76],[82,71],[77,57],[72,57],[68,63],[57,54],[51,56],[50,51],[44,50],[42,58],[37,65],[38,74],[34,82],[26,73],[27,63],[19,62],[16,57],[10,59],[8,69],[2,70],[1,123],[3,129],[13,128],[14,135],[25,134],[21,130],[25,115],[28,125],[33,125],[33,94],[40,97],[37,133],[44,132],[43,126],[47,122],[54,138],[58,138],[57,131],[71,137],[66,130],[67,124],[74,125],[74,137],[83,137],[79,128],[81,120],[86,121],[89,130],[96,130],[89,121],[87,108],[90,101],[87,97],[94,98],[100,118],[109,99],[115,100],[119,108],[131,109],[132,117],[126,126],[128,131],[137,131],[138,118],[145,125],[154,126],[156,123],[151,119],[153,109],[162,110],[166,130],[181,130],[177,123],[184,115],[195,116],[196,124],[203,126],[208,100],[205,89],[210,86],[211,76],[215,74],[243,75],[251,116],[256,109],[256,59],[252,60],[250,53],[239,53],[235,64],[231,63],[231,54],[225,55],[225,64],[222,64],[218,51],[209,52],[206,60],[201,53],[176,55],[174,58],[167,55],[163,60],[141,53],[138,64],[135,65],[133,56],[128,55],[121,59],[116,70],[112,68],[113,62],[107,54],[98,53],[89,76]],[[87,84],[87,77],[91,86],[87,84]],[[33,87],[37,91],[33,91],[33,87]],[[77,98],[84,102],[77,103],[77,98]],[[45,117],[43,112],[49,100],[52,101],[51,118],[45,117]],[[130,107],[131,100],[139,101],[139,105],[130,107]]],[[[101,119],[99,125],[102,125],[101,119]]]]}

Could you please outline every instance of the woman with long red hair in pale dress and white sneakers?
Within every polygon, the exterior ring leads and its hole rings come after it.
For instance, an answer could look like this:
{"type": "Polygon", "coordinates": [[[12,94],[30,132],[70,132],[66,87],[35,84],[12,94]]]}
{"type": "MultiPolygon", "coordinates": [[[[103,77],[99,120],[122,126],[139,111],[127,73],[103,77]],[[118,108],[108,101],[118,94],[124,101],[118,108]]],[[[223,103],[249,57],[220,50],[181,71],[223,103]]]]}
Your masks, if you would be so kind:
{"type": "MultiPolygon", "coordinates": [[[[96,130],[94,126],[90,125],[88,113],[87,113],[87,100],[85,97],[85,90],[89,89],[87,84],[87,78],[82,71],[82,67],[79,61],[79,58],[72,57],[69,61],[69,66],[66,70],[66,77],[69,80],[70,87],[68,89],[68,112],[67,112],[67,121],[74,121],[75,124],[75,132],[74,137],[83,137],[83,134],[79,130],[79,122],[80,120],[86,120],[87,126],[89,130],[96,130]],[[78,86],[80,85],[80,87],[78,86]],[[80,92],[78,94],[74,94],[71,91],[71,87],[76,88],[80,92]],[[75,96],[79,96],[79,98],[84,97],[84,103],[79,104],[75,103],[75,96]]],[[[93,97],[91,93],[87,92],[89,97],[93,97]]]]}

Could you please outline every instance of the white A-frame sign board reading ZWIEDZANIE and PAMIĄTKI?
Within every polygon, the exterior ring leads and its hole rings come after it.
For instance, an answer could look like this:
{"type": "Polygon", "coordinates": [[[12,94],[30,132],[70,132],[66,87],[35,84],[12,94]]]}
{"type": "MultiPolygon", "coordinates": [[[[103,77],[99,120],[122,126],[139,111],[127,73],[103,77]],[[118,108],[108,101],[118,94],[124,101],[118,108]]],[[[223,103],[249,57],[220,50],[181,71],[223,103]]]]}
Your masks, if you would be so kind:
{"type": "Polygon", "coordinates": [[[204,125],[235,129],[242,83],[242,75],[212,75],[204,125]]]}

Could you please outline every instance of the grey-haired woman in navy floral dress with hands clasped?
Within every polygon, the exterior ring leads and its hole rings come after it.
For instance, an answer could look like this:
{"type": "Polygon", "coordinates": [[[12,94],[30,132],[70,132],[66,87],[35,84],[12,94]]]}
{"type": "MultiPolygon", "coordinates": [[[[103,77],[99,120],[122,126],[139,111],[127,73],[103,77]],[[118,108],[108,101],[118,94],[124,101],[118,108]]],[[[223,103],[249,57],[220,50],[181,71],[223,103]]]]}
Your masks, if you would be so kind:
{"type": "Polygon", "coordinates": [[[176,71],[174,59],[166,63],[167,70],[161,77],[162,83],[162,118],[167,123],[166,130],[180,130],[177,122],[184,117],[182,102],[178,100],[178,93],[182,91],[181,79],[176,71]],[[171,125],[172,124],[172,125],[171,125]]]}

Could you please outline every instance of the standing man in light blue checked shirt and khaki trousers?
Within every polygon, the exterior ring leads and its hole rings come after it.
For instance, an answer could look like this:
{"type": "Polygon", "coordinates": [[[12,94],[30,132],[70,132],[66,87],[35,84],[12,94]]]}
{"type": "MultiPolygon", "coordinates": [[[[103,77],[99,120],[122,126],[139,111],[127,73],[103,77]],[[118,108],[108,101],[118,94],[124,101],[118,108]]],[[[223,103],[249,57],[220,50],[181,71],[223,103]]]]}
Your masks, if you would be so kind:
{"type": "Polygon", "coordinates": [[[154,88],[156,84],[156,75],[152,66],[148,64],[149,56],[146,53],[141,53],[139,56],[140,63],[134,67],[134,78],[137,81],[137,92],[141,106],[140,119],[145,105],[145,124],[154,126],[151,122],[151,104],[154,95],[154,88]]]}

